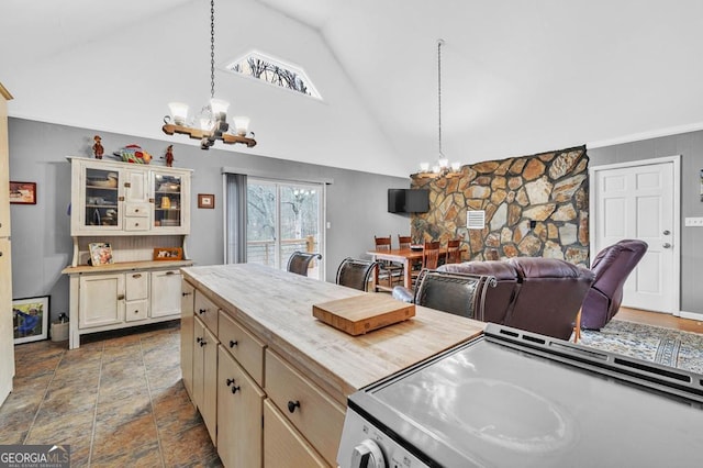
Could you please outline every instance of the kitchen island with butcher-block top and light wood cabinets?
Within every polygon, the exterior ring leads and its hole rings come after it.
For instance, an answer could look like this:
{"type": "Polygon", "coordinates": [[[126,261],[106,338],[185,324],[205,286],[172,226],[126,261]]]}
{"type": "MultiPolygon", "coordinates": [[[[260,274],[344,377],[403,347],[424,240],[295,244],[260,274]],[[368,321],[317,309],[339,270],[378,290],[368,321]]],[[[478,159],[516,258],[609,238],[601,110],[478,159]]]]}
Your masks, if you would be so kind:
{"type": "Polygon", "coordinates": [[[226,466],[334,466],[349,394],[484,325],[416,307],[352,336],[312,305],[368,293],[252,264],[181,271],[183,382],[226,466]]]}

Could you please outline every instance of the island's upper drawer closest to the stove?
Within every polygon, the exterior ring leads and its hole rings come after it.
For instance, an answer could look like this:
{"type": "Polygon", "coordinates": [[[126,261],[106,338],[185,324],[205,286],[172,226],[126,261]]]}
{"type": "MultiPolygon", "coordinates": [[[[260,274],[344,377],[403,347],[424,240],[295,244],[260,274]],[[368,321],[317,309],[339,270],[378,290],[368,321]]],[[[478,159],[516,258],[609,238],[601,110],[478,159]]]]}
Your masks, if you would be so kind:
{"type": "Polygon", "coordinates": [[[266,393],[325,460],[335,465],[345,409],[268,348],[266,393]]]}

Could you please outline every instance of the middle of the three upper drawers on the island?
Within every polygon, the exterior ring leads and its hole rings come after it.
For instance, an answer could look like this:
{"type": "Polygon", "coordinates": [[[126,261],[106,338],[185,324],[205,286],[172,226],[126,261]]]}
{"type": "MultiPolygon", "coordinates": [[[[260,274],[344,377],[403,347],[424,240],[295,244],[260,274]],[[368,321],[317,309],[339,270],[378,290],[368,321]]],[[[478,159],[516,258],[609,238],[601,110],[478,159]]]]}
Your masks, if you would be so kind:
{"type": "Polygon", "coordinates": [[[264,387],[264,343],[220,311],[217,338],[260,387],[264,387]]]}

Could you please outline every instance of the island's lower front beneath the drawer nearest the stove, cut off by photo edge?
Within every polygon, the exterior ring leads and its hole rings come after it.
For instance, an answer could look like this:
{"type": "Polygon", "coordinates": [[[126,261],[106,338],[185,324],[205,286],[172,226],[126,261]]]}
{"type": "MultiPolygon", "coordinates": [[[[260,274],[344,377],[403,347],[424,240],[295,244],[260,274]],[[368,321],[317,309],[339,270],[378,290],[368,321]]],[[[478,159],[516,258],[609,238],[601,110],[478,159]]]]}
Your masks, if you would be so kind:
{"type": "Polygon", "coordinates": [[[270,399],[264,401],[264,466],[277,468],[330,466],[281,415],[270,399]]]}

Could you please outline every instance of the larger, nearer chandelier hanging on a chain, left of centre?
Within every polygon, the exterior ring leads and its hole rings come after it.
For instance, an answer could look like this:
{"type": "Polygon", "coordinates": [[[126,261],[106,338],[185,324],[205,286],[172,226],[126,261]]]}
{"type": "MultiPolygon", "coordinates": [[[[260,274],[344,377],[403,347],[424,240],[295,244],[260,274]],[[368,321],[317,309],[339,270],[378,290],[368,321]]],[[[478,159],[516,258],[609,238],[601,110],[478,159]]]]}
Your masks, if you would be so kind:
{"type": "Polygon", "coordinates": [[[230,103],[215,99],[215,1],[210,0],[210,103],[200,113],[188,120],[188,104],[169,102],[170,114],[164,118],[164,133],[172,135],[180,133],[193,140],[200,140],[202,149],[210,149],[216,140],[226,144],[242,143],[249,148],[256,146],[254,132],[249,132],[249,119],[235,116],[234,132],[227,123],[230,103]],[[194,126],[194,125],[199,126],[194,126]],[[247,135],[252,135],[248,137],[247,135]]]}

